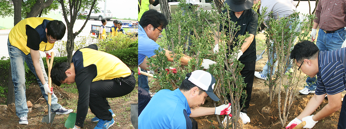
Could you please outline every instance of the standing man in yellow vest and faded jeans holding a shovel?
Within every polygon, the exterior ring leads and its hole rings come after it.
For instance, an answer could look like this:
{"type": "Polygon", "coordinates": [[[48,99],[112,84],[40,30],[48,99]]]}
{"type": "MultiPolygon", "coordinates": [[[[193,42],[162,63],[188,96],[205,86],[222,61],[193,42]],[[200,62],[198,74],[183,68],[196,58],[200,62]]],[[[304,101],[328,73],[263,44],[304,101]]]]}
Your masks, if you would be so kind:
{"type": "MultiPolygon", "coordinates": [[[[16,115],[19,118],[19,124],[28,125],[24,61],[30,71],[34,73],[42,95],[48,103],[48,93],[52,93],[53,90],[48,88],[48,76],[39,50],[50,55],[48,50],[53,48],[56,41],[60,41],[64,37],[65,31],[66,26],[62,21],[52,18],[31,17],[19,21],[8,35],[8,54],[11,62],[16,115]]],[[[52,93],[52,112],[68,114],[73,111],[63,108],[57,101],[55,94],[52,93]]]]}

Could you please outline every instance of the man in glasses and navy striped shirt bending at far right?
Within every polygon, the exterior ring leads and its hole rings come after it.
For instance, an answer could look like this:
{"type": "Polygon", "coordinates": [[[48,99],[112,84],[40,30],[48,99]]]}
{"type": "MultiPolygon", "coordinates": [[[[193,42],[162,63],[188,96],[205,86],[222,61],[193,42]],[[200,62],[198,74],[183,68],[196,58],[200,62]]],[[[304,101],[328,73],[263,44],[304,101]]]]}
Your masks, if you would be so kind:
{"type": "MultiPolygon", "coordinates": [[[[320,51],[310,41],[302,41],[291,52],[290,58],[294,59],[303,73],[310,77],[317,75],[317,88],[315,95],[309,100],[305,109],[293,119],[287,126],[294,128],[302,121],[306,121],[303,128],[311,129],[318,120],[328,117],[341,107],[338,129],[346,128],[346,102],[342,102],[342,92],[345,90],[346,48],[331,51],[320,51]],[[328,94],[328,104],[319,112],[311,115],[323,102],[328,94]]],[[[345,96],[344,96],[345,99],[345,96]]]]}

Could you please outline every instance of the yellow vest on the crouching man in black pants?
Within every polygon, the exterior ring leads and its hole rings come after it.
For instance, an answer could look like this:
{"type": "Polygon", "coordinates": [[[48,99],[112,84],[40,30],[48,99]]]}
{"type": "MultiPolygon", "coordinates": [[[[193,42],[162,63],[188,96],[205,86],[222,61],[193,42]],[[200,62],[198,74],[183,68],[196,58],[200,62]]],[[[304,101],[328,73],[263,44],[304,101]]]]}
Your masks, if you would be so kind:
{"type": "Polygon", "coordinates": [[[111,80],[131,75],[131,70],[118,57],[90,48],[79,49],[83,54],[83,66],[96,65],[97,76],[92,80],[111,80]]]}

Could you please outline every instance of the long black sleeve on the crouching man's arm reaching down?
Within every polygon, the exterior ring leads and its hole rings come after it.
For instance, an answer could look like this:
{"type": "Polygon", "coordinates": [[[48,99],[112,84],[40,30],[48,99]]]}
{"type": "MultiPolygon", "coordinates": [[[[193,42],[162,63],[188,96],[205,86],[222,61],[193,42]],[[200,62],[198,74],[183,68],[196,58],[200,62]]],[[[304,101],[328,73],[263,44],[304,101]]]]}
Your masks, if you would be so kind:
{"type": "Polygon", "coordinates": [[[78,89],[78,104],[75,125],[84,126],[86,114],[89,108],[90,84],[97,75],[95,65],[89,65],[82,68],[75,76],[75,82],[78,89]]]}

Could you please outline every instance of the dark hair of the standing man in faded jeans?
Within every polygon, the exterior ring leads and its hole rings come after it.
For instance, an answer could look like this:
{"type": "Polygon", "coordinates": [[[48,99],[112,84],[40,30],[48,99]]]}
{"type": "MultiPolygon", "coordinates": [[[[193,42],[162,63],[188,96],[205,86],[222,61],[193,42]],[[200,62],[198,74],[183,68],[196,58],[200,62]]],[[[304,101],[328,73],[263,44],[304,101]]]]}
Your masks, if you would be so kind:
{"type": "Polygon", "coordinates": [[[47,26],[47,35],[52,36],[56,40],[61,40],[66,32],[66,26],[62,21],[52,20],[49,21],[47,26]]]}

